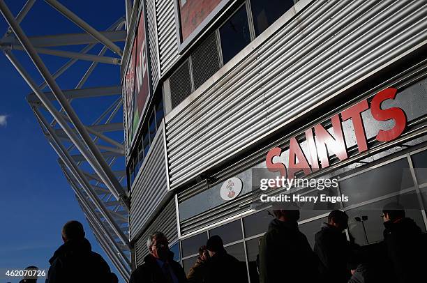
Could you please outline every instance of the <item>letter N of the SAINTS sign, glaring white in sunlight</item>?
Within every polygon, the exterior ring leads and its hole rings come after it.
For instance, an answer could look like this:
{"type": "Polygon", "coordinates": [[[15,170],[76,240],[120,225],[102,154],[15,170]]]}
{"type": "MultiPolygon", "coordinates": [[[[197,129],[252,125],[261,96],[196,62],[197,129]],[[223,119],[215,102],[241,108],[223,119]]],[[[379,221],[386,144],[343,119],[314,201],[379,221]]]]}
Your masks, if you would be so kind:
{"type": "Polygon", "coordinates": [[[331,118],[332,128],[334,129],[333,137],[322,125],[315,125],[317,151],[319,153],[320,164],[322,168],[329,166],[328,150],[331,150],[340,160],[347,159],[347,149],[343,129],[341,128],[340,116],[336,114],[331,118]]]}

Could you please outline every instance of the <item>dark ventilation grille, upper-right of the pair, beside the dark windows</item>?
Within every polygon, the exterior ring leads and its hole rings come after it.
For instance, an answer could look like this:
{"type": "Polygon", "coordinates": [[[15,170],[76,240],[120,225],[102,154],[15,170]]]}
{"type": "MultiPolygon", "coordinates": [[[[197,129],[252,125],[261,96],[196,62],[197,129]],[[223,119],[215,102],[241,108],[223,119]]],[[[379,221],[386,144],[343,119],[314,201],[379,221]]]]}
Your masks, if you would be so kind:
{"type": "Polygon", "coordinates": [[[204,43],[191,54],[194,89],[197,89],[220,69],[216,33],[212,33],[204,43]]]}

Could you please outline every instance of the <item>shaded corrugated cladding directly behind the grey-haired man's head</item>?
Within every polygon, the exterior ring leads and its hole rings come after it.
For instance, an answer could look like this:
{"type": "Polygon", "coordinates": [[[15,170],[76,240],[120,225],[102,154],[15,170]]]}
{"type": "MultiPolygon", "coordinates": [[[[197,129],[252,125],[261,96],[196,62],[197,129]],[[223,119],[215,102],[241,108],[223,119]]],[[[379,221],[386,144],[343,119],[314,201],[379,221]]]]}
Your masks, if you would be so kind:
{"type": "Polygon", "coordinates": [[[156,217],[156,220],[154,220],[144,234],[136,241],[135,257],[137,266],[144,263],[144,257],[149,254],[147,238],[155,231],[163,232],[169,240],[169,243],[173,243],[174,240],[177,240],[177,213],[175,211],[174,199],[167,204],[165,209],[156,217]]]}

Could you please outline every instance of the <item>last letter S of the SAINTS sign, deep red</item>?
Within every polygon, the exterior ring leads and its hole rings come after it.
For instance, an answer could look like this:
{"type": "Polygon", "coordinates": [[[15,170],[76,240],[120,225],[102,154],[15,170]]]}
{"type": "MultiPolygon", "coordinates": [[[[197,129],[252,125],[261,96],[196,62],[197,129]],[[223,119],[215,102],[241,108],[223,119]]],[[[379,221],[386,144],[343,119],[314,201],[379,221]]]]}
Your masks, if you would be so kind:
{"type": "Polygon", "coordinates": [[[390,130],[379,130],[377,134],[377,141],[389,142],[396,139],[406,126],[406,115],[402,109],[398,107],[391,107],[389,109],[381,109],[381,104],[384,100],[394,99],[396,97],[397,89],[389,88],[375,94],[370,102],[370,113],[377,121],[387,121],[394,119],[396,125],[390,130]]]}

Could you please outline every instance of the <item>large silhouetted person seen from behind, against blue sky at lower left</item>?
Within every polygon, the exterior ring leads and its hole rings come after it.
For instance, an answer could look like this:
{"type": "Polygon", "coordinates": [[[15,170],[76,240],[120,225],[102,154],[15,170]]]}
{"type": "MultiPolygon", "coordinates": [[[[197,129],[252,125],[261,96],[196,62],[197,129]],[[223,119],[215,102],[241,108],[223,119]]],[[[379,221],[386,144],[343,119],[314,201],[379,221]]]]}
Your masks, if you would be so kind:
{"type": "Polygon", "coordinates": [[[112,282],[110,267],[100,254],[92,252],[80,222],[67,222],[62,240],[63,245],[49,260],[46,283],[112,282]]]}

